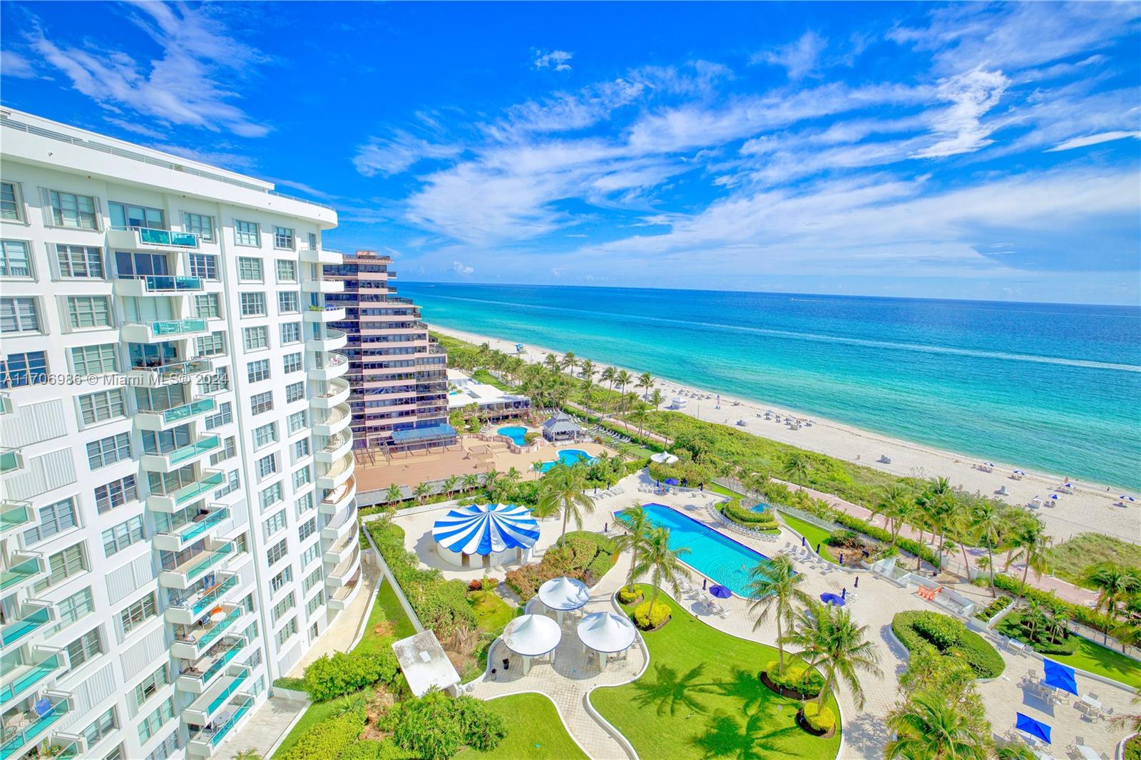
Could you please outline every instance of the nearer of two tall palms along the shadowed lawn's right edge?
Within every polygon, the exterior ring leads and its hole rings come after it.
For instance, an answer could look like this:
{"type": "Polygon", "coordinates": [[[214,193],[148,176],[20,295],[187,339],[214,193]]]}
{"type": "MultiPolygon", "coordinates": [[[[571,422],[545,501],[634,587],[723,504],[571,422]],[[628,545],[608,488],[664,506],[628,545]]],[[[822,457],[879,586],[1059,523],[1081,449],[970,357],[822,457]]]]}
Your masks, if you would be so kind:
{"type": "Polygon", "coordinates": [[[795,625],[784,639],[785,644],[801,648],[800,656],[810,669],[824,671],[824,688],[816,700],[817,704],[824,704],[833,685],[843,678],[856,706],[864,708],[864,689],[856,672],[882,674],[880,654],[867,640],[867,625],[858,625],[842,607],[810,601],[806,609],[796,613],[795,625]]]}

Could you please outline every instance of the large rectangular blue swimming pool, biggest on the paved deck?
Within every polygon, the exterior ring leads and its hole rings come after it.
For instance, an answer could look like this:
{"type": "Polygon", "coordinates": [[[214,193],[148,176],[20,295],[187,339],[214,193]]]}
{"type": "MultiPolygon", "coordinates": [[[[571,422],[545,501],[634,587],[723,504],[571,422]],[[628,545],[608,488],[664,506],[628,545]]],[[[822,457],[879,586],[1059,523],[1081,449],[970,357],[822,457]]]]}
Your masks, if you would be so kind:
{"type": "Polygon", "coordinates": [[[671,549],[689,548],[681,561],[738,596],[748,595],[748,572],[768,557],[665,504],[642,507],[650,525],[670,528],[671,549]]]}

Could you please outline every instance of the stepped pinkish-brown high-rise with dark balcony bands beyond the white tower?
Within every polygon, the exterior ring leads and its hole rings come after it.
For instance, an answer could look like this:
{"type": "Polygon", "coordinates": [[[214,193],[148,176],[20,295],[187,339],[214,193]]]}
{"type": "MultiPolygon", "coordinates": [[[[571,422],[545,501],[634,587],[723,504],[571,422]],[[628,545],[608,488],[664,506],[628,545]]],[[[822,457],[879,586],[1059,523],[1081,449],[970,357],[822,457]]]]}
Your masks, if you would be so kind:
{"type": "Polygon", "coordinates": [[[342,292],[332,325],[345,331],[354,445],[385,454],[456,443],[447,423],[447,354],[428,337],[420,307],[396,294],[389,256],[346,254],[325,276],[342,292]]]}

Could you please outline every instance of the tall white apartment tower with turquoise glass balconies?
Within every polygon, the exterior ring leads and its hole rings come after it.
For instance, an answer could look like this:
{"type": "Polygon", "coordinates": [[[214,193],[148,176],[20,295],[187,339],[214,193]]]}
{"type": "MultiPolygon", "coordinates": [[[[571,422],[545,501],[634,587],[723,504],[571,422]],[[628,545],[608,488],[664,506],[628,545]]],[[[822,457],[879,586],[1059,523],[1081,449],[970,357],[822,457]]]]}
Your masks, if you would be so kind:
{"type": "Polygon", "coordinates": [[[17,111],[0,148],[0,759],[228,757],[361,587],[337,213],[17,111]]]}

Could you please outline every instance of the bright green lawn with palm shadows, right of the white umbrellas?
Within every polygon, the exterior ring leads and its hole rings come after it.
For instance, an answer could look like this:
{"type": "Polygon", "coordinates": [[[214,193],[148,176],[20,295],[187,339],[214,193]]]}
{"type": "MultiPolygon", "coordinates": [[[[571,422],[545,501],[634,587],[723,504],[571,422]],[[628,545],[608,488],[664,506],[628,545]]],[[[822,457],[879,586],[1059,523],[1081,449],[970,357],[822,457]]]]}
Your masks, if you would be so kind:
{"type": "MultiPolygon", "coordinates": [[[[642,634],[650,654],[646,673],[590,695],[639,755],[835,758],[840,731],[827,739],[806,733],[795,722],[800,703],[777,696],[758,678],[777,658],[774,647],[722,633],[671,606],[665,628],[642,634]]],[[[839,719],[835,700],[825,704],[839,719]]]]}

